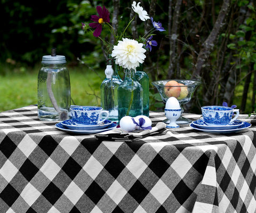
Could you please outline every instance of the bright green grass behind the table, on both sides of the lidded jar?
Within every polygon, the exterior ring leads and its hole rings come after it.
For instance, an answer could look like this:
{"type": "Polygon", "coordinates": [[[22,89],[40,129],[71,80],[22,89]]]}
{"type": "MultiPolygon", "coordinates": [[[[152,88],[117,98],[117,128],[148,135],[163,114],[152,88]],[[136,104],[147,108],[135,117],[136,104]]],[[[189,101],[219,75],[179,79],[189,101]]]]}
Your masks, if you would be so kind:
{"type": "MultiPolygon", "coordinates": [[[[39,70],[39,69],[38,69],[39,70]]],[[[37,104],[36,71],[10,72],[0,75],[0,112],[37,104]]],[[[77,105],[100,105],[100,85],[104,70],[97,73],[87,69],[69,68],[71,98],[77,105]]]]}

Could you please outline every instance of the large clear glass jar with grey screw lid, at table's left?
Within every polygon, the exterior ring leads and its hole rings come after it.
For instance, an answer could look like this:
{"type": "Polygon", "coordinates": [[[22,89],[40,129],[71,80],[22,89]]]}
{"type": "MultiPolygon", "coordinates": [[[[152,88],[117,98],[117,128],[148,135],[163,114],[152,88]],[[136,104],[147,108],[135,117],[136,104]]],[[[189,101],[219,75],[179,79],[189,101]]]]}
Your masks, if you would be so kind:
{"type": "Polygon", "coordinates": [[[70,79],[65,56],[43,56],[38,73],[37,100],[40,120],[69,119],[70,79]]]}

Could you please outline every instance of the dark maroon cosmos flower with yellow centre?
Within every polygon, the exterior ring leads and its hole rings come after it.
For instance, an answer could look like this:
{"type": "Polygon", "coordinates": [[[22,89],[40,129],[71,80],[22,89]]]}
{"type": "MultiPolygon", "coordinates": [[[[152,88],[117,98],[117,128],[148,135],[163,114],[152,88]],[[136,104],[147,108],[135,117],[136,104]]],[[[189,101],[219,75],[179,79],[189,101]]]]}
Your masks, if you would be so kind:
{"type": "Polygon", "coordinates": [[[95,22],[94,23],[89,23],[89,26],[92,27],[92,28],[96,28],[93,32],[93,36],[99,37],[100,34],[101,34],[101,31],[102,31],[102,23],[104,23],[104,22],[109,23],[110,19],[109,19],[109,12],[108,12],[108,10],[106,9],[105,6],[103,6],[103,9],[102,9],[101,6],[97,6],[96,9],[97,9],[97,12],[99,13],[99,16],[98,15],[92,15],[91,20],[95,21],[95,22]]]}

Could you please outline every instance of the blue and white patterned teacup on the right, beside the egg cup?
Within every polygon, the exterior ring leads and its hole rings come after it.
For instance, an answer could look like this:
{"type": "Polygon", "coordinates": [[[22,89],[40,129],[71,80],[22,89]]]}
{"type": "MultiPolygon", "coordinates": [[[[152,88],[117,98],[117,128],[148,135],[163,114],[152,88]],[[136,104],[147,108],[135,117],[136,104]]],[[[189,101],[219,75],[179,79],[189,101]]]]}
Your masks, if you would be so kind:
{"type": "Polygon", "coordinates": [[[202,106],[203,119],[207,125],[227,125],[236,120],[239,116],[239,110],[228,106],[202,106]],[[233,113],[236,113],[233,117],[233,113]]]}

